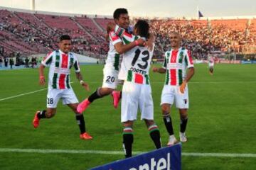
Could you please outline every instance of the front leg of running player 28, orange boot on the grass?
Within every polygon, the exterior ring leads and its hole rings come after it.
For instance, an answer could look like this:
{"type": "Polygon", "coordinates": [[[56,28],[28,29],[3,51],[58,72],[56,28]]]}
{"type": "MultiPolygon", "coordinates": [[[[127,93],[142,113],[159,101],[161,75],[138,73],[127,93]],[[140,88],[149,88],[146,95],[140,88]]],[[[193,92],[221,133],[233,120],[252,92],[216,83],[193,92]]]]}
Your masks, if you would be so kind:
{"type": "Polygon", "coordinates": [[[92,140],[92,136],[90,136],[85,130],[85,118],[83,114],[78,113],[78,103],[68,104],[68,106],[73,110],[75,113],[75,120],[77,120],[78,126],[80,128],[80,138],[82,140],[92,140]]]}

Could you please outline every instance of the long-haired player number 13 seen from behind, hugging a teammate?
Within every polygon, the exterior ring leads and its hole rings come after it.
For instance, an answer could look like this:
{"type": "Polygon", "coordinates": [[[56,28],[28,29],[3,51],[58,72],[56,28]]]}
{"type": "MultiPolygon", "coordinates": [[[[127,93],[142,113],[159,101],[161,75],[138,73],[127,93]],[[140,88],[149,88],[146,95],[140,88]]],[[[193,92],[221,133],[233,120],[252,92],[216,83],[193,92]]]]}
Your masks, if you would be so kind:
{"type": "MultiPolygon", "coordinates": [[[[118,26],[115,30],[117,35],[122,37],[124,44],[136,41],[139,36],[145,40],[149,38],[149,24],[142,20],[137,21],[135,24],[134,35],[126,33],[118,26]]],[[[156,149],[161,148],[159,128],[154,123],[154,104],[149,84],[149,67],[153,52],[154,44],[151,50],[147,47],[137,46],[123,54],[118,79],[124,81],[122,87],[121,122],[124,126],[122,136],[126,158],[132,157],[133,123],[134,120],[137,120],[138,108],[142,113],[141,119],[145,121],[156,149]]]]}

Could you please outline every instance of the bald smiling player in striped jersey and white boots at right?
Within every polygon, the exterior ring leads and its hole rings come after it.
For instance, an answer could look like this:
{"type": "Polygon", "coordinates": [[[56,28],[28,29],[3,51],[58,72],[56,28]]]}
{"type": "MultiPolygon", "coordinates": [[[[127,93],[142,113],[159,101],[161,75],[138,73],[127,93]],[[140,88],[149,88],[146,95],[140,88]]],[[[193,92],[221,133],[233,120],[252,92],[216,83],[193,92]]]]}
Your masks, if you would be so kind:
{"type": "Polygon", "coordinates": [[[154,67],[153,72],[166,73],[166,81],[161,94],[161,110],[164,116],[164,124],[169,132],[169,142],[167,145],[174,145],[176,137],[171,122],[171,106],[176,103],[181,118],[180,141],[186,142],[186,125],[188,122],[188,81],[193,77],[194,68],[191,53],[181,47],[181,35],[171,33],[171,50],[165,52],[164,64],[162,68],[154,67]],[[188,68],[188,73],[186,73],[188,68]]]}

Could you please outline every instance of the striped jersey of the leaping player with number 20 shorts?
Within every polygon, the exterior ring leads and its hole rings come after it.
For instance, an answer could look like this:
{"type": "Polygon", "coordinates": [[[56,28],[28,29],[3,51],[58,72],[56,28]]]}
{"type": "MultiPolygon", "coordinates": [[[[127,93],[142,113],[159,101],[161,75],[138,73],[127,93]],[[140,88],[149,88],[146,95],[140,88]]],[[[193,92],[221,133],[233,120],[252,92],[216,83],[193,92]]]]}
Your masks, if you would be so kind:
{"type": "Polygon", "coordinates": [[[122,40],[114,33],[114,31],[111,31],[109,33],[110,38],[110,50],[107,52],[107,60],[105,67],[113,67],[114,70],[119,71],[119,60],[120,55],[118,52],[114,49],[114,45],[118,42],[122,42],[122,40]]]}

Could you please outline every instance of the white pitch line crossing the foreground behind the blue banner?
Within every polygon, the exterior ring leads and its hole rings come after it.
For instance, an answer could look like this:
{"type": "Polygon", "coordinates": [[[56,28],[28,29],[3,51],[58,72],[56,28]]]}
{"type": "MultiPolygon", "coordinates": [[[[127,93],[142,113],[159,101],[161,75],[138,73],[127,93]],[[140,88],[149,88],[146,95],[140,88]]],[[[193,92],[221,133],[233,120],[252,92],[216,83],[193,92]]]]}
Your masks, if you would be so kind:
{"type": "MultiPolygon", "coordinates": [[[[121,151],[103,151],[103,150],[73,150],[73,149],[18,149],[18,148],[0,148],[0,152],[23,152],[23,153],[41,153],[41,154],[124,154],[121,151]]],[[[133,152],[142,154],[145,152],[133,152]]],[[[182,156],[191,157],[248,157],[256,158],[256,154],[238,154],[238,153],[193,153],[182,152],[182,156]]]]}

